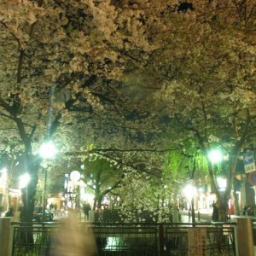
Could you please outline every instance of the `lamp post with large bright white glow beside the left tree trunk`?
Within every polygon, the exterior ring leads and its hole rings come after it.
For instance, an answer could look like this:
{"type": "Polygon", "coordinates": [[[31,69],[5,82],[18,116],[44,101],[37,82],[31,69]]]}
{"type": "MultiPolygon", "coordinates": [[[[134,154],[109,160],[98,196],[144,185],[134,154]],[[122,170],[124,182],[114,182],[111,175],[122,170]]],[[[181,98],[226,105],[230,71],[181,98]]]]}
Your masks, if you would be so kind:
{"type": "MultiPolygon", "coordinates": [[[[47,143],[43,143],[39,148],[39,154],[43,159],[53,159],[55,154],[57,153],[57,149],[55,148],[55,144],[51,141],[47,143]]],[[[43,204],[43,222],[45,219],[45,208],[46,208],[46,189],[47,189],[47,168],[44,168],[44,204],[43,204]]]]}

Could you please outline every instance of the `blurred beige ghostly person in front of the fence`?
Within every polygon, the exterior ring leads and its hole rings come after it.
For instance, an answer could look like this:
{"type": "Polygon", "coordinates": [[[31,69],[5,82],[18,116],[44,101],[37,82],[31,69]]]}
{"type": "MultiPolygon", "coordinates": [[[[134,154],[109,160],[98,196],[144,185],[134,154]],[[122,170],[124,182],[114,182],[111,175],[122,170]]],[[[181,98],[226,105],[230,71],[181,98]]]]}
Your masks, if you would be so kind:
{"type": "Polygon", "coordinates": [[[85,223],[79,223],[79,216],[74,211],[68,212],[60,229],[53,238],[51,256],[96,256],[96,241],[85,223]]]}

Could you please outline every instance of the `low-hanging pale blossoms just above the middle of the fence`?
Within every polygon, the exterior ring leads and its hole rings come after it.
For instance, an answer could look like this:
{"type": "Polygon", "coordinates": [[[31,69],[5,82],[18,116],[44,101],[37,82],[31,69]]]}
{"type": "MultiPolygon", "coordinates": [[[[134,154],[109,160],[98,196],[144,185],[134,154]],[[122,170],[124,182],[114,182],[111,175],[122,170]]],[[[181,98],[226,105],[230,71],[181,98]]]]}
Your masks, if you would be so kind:
{"type": "Polygon", "coordinates": [[[177,208],[179,182],[135,170],[125,172],[117,193],[118,210],[125,222],[169,222],[177,208]]]}

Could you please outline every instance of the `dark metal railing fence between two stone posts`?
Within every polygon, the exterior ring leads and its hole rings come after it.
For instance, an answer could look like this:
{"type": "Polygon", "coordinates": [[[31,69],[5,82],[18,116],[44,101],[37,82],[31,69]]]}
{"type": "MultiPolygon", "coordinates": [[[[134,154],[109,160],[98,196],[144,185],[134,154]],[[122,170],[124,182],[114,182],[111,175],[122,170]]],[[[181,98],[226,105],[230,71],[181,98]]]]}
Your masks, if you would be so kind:
{"type": "MultiPolygon", "coordinates": [[[[189,250],[190,255],[191,250],[195,255],[200,250],[201,255],[236,255],[234,223],[89,224],[86,227],[94,233],[99,256],[186,256],[189,250]],[[197,232],[192,237],[191,230],[197,232]],[[198,231],[206,236],[200,238],[198,231]],[[195,238],[196,243],[191,246],[189,242],[195,238]]],[[[52,233],[60,228],[58,224],[14,224],[12,255],[49,255],[52,233]]]]}

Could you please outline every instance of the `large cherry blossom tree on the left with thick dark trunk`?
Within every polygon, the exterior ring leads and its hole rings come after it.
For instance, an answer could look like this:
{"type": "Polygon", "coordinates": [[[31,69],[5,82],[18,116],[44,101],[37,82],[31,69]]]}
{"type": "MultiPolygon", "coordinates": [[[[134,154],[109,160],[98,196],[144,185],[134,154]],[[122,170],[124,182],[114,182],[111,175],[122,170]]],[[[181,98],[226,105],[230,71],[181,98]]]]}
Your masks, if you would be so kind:
{"type": "Polygon", "coordinates": [[[84,119],[103,108],[106,113],[108,102],[116,114],[115,102],[106,97],[113,93],[108,80],[141,65],[140,52],[153,49],[143,37],[139,21],[143,10],[118,5],[110,1],[1,3],[2,146],[15,142],[22,155],[20,168],[31,176],[22,195],[22,221],[32,220],[40,144],[53,138],[57,128],[61,140],[65,125],[73,124],[78,113],[83,112],[84,119]],[[123,23],[127,23],[125,30],[119,26],[123,23]]]}

